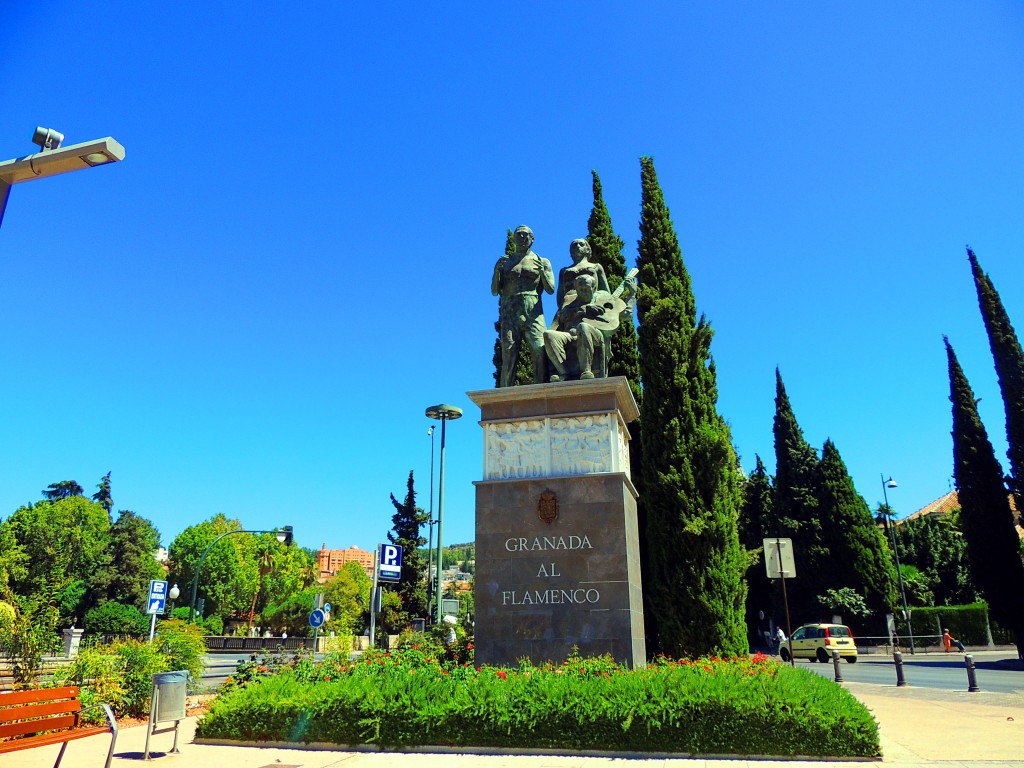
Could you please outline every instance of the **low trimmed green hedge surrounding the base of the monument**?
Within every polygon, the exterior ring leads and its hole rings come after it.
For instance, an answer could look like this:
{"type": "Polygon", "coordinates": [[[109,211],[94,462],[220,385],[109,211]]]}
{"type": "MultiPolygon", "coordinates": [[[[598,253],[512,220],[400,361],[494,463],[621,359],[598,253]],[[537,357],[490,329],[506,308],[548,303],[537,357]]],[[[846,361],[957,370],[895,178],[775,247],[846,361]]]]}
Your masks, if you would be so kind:
{"type": "Polygon", "coordinates": [[[282,672],[213,702],[200,738],[861,757],[878,726],[839,685],[754,659],[443,668],[371,655],[282,672]]]}

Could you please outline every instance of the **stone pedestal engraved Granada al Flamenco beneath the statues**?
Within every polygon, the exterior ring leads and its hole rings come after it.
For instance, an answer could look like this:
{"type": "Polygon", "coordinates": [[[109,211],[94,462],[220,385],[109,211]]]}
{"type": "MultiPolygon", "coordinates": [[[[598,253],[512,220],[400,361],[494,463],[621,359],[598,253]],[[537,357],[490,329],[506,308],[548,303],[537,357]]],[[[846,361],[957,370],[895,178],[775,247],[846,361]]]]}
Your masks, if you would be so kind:
{"type": "Polygon", "coordinates": [[[626,379],[469,392],[480,407],[477,664],[646,662],[626,379]]]}

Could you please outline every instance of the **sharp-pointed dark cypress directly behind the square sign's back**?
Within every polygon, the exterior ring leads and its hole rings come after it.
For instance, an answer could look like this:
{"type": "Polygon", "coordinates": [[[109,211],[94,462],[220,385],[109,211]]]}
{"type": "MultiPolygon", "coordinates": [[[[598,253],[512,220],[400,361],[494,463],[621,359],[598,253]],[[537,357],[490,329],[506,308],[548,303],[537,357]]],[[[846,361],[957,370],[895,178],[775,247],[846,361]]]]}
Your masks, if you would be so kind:
{"type": "Polygon", "coordinates": [[[804,439],[782,376],[775,369],[775,514],[776,536],[793,539],[796,579],[786,583],[794,625],[817,617],[818,586],[827,569],[828,550],[818,515],[821,467],[804,439]]]}

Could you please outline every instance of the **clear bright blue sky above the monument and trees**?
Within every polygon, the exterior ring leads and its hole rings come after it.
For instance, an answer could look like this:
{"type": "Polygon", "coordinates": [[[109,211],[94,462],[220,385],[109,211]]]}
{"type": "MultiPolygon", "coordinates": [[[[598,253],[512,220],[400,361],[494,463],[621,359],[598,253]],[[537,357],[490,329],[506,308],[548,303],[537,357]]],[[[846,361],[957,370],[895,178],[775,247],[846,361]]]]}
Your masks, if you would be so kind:
{"type": "Polygon", "coordinates": [[[774,469],[778,366],[909,514],[949,488],[943,334],[1005,459],[965,245],[1024,332],[1022,40],[1009,0],[5,3],[0,159],[37,124],[127,157],[11,191],[0,517],[111,471],[165,544],[223,512],[370,548],[411,469],[428,506],[449,402],[472,539],[505,232],[567,263],[596,169],[632,264],[644,155],[743,467],[774,469]]]}

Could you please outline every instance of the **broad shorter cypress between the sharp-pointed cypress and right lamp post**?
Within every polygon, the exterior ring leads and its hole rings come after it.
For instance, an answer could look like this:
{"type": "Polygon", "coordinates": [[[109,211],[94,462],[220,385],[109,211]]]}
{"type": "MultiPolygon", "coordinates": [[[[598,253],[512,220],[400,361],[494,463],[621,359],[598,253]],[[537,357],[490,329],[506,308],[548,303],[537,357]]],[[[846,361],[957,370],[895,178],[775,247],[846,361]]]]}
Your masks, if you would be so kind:
{"type": "Polygon", "coordinates": [[[829,552],[829,567],[822,574],[830,577],[819,587],[849,587],[857,592],[876,613],[896,605],[896,566],[885,537],[867,502],[853,486],[839,449],[825,440],[821,451],[821,496],[819,514],[822,541],[829,552]]]}

